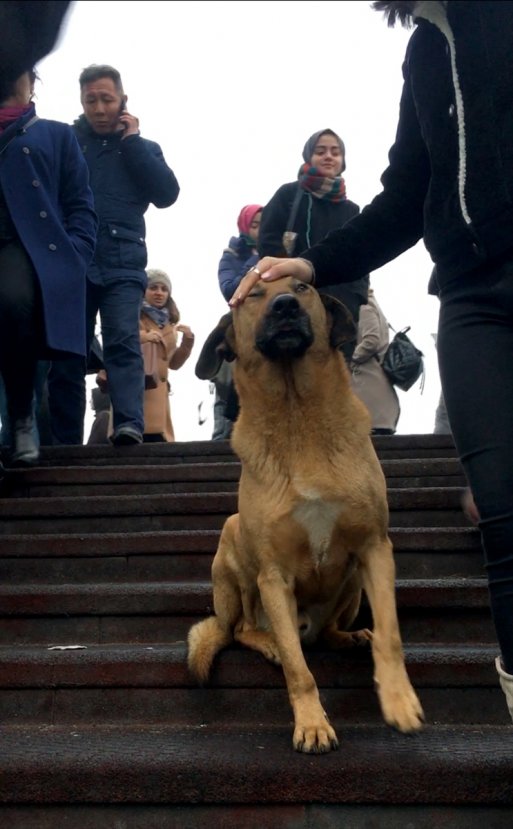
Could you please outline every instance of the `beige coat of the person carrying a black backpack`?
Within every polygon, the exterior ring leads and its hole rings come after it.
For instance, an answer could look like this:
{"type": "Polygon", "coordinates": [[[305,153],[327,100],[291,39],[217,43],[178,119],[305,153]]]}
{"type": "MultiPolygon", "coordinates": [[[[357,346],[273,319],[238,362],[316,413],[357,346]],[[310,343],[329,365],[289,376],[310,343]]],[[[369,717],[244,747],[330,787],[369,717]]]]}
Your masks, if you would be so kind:
{"type": "Polygon", "coordinates": [[[353,391],[367,406],[373,435],[393,435],[401,413],[399,398],[381,368],[388,348],[388,322],[374,291],[360,308],[356,347],[351,361],[353,391]]]}

